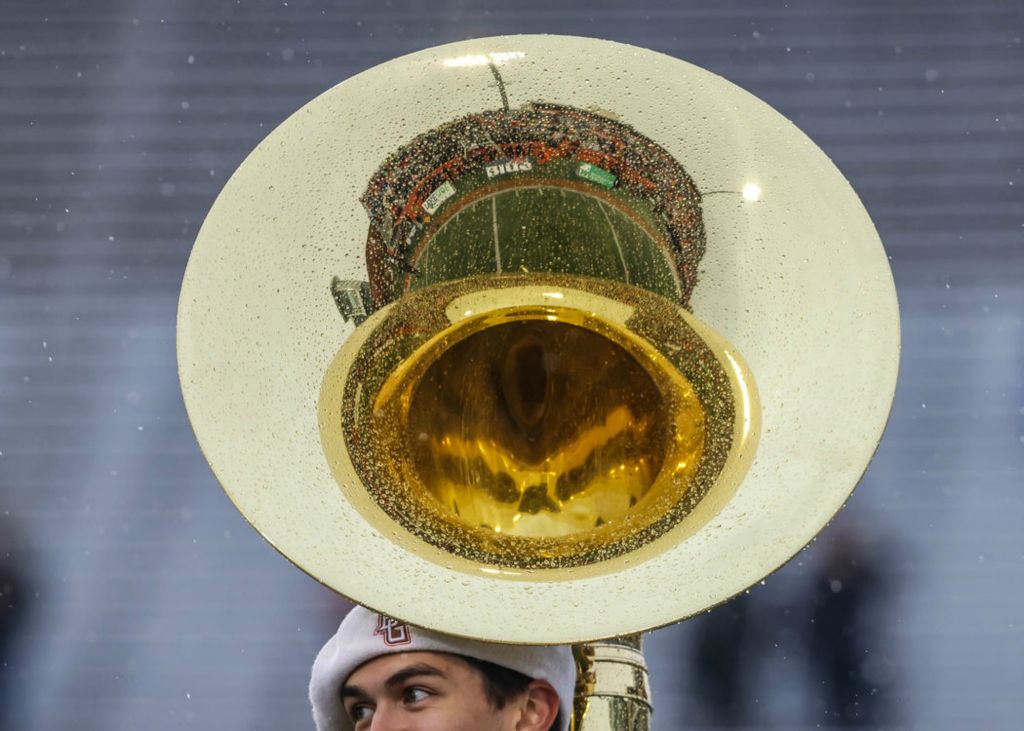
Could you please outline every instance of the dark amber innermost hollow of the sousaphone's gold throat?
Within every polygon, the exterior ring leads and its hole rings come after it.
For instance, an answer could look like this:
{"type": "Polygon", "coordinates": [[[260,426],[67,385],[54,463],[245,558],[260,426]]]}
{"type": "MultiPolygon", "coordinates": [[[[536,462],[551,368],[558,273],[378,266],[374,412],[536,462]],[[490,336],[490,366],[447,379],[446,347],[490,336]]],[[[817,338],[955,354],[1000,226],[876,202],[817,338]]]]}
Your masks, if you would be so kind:
{"type": "Polygon", "coordinates": [[[650,510],[667,458],[689,481],[705,432],[692,387],[659,373],[656,351],[590,319],[490,313],[454,329],[446,339],[473,333],[447,349],[415,353],[436,355],[418,382],[382,391],[400,400],[380,406],[397,416],[412,471],[451,519],[565,536],[650,510]]]}

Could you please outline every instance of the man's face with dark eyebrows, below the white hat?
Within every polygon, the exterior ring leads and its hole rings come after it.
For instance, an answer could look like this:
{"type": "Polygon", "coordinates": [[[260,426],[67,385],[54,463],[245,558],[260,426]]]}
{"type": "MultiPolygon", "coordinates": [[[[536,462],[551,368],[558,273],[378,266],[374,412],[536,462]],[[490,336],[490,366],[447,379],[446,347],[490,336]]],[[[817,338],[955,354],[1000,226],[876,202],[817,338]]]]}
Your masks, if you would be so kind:
{"type": "MultiPolygon", "coordinates": [[[[551,691],[554,692],[553,690],[551,691]]],[[[462,658],[399,652],[358,668],[341,689],[355,731],[547,731],[530,693],[496,708],[483,677],[462,658]],[[530,725],[531,720],[541,719],[530,725]]],[[[555,696],[557,713],[557,695],[555,696]]],[[[551,723],[549,718],[547,723],[551,723]]]]}

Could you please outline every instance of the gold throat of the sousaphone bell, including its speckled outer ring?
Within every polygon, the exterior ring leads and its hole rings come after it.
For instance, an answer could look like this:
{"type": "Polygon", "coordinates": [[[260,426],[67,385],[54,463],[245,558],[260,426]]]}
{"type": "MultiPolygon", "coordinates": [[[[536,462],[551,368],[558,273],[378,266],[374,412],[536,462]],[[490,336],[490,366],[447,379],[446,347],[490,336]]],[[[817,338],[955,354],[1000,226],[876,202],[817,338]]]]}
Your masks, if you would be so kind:
{"type": "Polygon", "coordinates": [[[354,506],[434,560],[561,569],[636,552],[738,484],[713,490],[748,385],[687,317],[567,275],[410,293],[329,369],[325,451],[354,506]]]}

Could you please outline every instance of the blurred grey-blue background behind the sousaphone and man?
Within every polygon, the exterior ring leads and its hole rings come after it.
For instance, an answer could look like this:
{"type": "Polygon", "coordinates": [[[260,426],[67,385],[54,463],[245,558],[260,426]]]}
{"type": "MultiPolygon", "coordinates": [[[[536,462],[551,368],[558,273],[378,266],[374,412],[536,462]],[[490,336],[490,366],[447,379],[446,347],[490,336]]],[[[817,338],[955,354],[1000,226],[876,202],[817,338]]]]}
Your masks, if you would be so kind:
{"type": "Polygon", "coordinates": [[[768,101],[849,177],[900,297],[864,481],[763,586],[653,635],[655,729],[1020,728],[1018,0],[3,0],[0,727],[311,728],[308,668],[345,604],[200,455],[178,286],[217,191],[294,110],[510,33],[645,46],[768,101]]]}

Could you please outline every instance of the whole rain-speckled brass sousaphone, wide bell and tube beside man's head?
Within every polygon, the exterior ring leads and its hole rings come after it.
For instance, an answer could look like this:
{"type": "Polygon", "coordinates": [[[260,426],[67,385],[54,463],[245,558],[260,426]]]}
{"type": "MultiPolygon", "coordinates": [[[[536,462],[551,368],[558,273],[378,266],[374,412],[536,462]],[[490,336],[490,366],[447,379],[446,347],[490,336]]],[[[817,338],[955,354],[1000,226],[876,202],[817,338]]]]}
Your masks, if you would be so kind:
{"type": "MultiPolygon", "coordinates": [[[[803,133],[696,67],[555,36],[299,110],[214,204],[178,314],[200,444],[267,541],[360,604],[515,643],[629,638],[788,560],[870,460],[898,352],[878,234],[803,133]]],[[[613,719],[648,707],[636,643],[579,657],[585,727],[641,728],[613,719]]]]}

